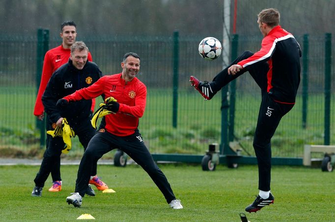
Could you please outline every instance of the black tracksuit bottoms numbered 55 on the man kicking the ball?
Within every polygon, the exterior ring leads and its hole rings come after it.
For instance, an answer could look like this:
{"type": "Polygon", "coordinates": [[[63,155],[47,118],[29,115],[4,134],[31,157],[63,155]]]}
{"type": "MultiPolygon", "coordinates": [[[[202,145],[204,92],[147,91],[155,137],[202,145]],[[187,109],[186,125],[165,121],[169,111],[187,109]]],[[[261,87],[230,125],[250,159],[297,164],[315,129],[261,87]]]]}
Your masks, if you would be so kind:
{"type": "Polygon", "coordinates": [[[285,104],[274,101],[267,92],[267,62],[255,63],[247,66],[236,75],[228,75],[228,68],[238,62],[249,58],[253,53],[244,52],[236,58],[228,67],[223,69],[210,83],[214,92],[218,92],[223,86],[233,81],[243,73],[249,71],[251,77],[261,89],[262,101],[259,108],[257,126],[253,137],[253,148],[258,163],[258,189],[270,191],[271,182],[271,138],[279,125],[281,117],[293,108],[293,104],[285,104]]]}

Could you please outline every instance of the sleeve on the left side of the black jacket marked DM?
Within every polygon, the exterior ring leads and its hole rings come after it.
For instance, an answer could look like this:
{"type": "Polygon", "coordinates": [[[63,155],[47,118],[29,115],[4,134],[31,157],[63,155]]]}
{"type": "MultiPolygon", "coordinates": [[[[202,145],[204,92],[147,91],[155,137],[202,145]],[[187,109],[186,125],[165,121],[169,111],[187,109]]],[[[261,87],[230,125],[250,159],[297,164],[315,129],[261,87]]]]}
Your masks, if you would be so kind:
{"type": "Polygon", "coordinates": [[[44,110],[46,113],[50,116],[51,121],[55,122],[61,118],[60,111],[56,108],[56,103],[58,99],[60,99],[60,88],[59,85],[61,85],[58,75],[54,73],[49,83],[43,93],[42,96],[42,103],[44,106],[44,110]]]}

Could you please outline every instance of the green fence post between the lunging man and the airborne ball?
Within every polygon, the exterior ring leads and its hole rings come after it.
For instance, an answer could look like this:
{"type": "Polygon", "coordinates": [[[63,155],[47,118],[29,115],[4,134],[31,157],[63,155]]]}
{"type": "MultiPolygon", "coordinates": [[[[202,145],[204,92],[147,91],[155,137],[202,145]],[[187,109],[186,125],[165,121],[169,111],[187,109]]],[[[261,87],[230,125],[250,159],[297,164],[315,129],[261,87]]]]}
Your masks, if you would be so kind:
{"type": "Polygon", "coordinates": [[[173,101],[172,126],[177,128],[178,116],[178,68],[179,68],[179,32],[173,32],[173,101]]]}

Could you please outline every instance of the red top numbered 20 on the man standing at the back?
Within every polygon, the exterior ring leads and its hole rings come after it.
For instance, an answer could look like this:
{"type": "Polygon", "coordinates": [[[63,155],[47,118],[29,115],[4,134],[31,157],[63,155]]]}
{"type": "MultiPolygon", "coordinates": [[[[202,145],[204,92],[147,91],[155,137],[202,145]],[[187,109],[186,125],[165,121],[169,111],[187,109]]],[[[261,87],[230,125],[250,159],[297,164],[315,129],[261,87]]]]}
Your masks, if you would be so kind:
{"type": "MultiPolygon", "coordinates": [[[[41,83],[40,87],[38,89],[36,102],[35,102],[35,108],[34,108],[34,115],[39,116],[42,115],[44,112],[44,106],[42,103],[42,95],[45,91],[45,88],[47,87],[47,84],[50,80],[50,77],[53,75],[53,73],[58,69],[61,65],[68,62],[70,58],[71,50],[70,49],[64,49],[62,45],[57,46],[56,48],[53,48],[49,50],[45,56],[44,56],[44,62],[43,62],[43,70],[42,70],[42,77],[41,77],[41,83]]],[[[92,55],[90,52],[88,52],[87,56],[88,61],[92,61],[92,55]]],[[[91,110],[94,111],[95,106],[95,100],[92,100],[92,107],[91,110]]]]}

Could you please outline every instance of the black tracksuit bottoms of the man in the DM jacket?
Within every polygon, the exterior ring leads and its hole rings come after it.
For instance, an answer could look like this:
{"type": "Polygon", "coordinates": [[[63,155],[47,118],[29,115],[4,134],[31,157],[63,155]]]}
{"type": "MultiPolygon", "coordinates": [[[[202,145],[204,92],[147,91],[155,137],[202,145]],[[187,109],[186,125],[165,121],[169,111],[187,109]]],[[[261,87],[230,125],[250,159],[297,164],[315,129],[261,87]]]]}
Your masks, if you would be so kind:
{"type": "MultiPolygon", "coordinates": [[[[49,124],[48,129],[54,130],[52,126],[52,122],[49,118],[47,118],[47,124],[49,124]]],[[[89,140],[95,135],[95,129],[92,127],[90,119],[86,118],[80,122],[69,122],[69,125],[74,130],[76,136],[78,136],[79,141],[86,149],[89,140]]],[[[50,172],[55,169],[55,165],[57,166],[60,163],[60,155],[61,151],[64,149],[64,141],[62,137],[55,137],[53,138],[50,135],[47,135],[47,149],[43,154],[43,160],[41,163],[41,167],[39,172],[36,174],[34,179],[35,185],[39,187],[44,187],[45,181],[48,179],[50,172]]],[[[71,151],[70,151],[71,152],[71,151]]],[[[90,171],[90,175],[96,175],[97,173],[97,162],[95,162],[94,166],[90,171]]],[[[59,175],[60,179],[60,175],[59,175]]],[[[53,178],[54,180],[54,178],[53,178]]],[[[86,186],[87,188],[87,186],[86,186]]]]}

